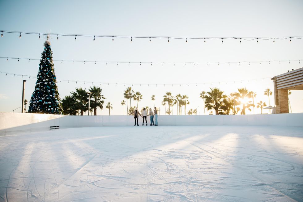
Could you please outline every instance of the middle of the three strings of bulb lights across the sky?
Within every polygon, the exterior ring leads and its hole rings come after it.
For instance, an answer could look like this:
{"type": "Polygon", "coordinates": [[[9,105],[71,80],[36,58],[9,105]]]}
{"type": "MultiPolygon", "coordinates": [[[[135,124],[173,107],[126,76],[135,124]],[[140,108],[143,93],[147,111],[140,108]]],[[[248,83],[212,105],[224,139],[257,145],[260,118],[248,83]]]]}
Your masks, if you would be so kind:
{"type": "MultiPolygon", "coordinates": [[[[18,60],[18,62],[20,61],[20,60],[28,60],[28,62],[30,62],[31,60],[32,61],[36,61],[36,60],[38,60],[38,61],[40,61],[41,59],[36,59],[36,58],[21,58],[21,57],[0,57],[0,58],[2,58],[2,59],[6,59],[6,61],[9,61],[9,59],[13,59],[13,60],[18,60]]],[[[301,64],[301,61],[302,61],[303,59],[300,59],[300,60],[268,60],[268,61],[240,61],[240,62],[136,62],[136,61],[133,61],[133,62],[127,62],[127,61],[90,61],[90,60],[53,60],[53,61],[57,61],[57,62],[61,62],[61,63],[63,63],[63,62],[72,62],[72,64],[74,64],[74,62],[77,62],[77,63],[83,63],[83,64],[85,64],[85,63],[95,63],[95,65],[97,64],[97,63],[103,63],[103,64],[109,64],[109,63],[114,63],[114,64],[117,64],[117,65],[119,65],[119,64],[128,64],[128,65],[130,65],[130,64],[139,64],[139,65],[141,65],[141,64],[150,64],[150,65],[153,65],[153,64],[162,64],[162,65],[164,65],[164,64],[173,64],[173,65],[175,65],[175,64],[184,64],[184,65],[186,65],[186,64],[193,64],[193,65],[198,65],[198,64],[204,64],[204,65],[210,65],[210,64],[217,64],[217,65],[220,65],[220,64],[228,64],[228,65],[230,65],[230,64],[239,64],[239,65],[241,65],[242,63],[246,63],[246,64],[248,64],[248,65],[250,65],[250,63],[259,63],[260,65],[261,65],[261,63],[268,63],[268,64],[270,64],[270,63],[272,63],[272,62],[279,62],[279,64],[281,64],[281,62],[288,62],[289,64],[291,63],[291,62],[298,62],[299,64],[301,64]]]]}

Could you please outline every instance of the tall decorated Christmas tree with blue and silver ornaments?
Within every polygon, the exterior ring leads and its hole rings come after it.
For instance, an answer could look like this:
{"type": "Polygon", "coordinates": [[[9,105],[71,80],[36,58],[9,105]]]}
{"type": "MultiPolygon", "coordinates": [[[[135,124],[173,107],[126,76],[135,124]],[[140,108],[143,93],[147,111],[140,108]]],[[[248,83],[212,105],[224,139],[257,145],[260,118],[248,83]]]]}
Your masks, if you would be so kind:
{"type": "Polygon", "coordinates": [[[62,113],[52,55],[50,42],[47,39],[41,54],[35,90],[29,102],[29,113],[62,113]]]}

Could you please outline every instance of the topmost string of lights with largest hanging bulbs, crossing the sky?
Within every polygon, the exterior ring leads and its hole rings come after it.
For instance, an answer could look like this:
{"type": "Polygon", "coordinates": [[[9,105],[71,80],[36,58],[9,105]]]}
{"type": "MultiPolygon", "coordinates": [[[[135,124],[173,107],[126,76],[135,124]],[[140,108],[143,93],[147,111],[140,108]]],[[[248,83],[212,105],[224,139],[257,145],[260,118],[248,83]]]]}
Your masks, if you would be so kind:
{"type": "Polygon", "coordinates": [[[57,36],[57,40],[59,39],[59,36],[71,36],[75,37],[75,40],[77,40],[77,37],[91,37],[93,38],[93,41],[96,40],[97,37],[102,38],[111,38],[114,40],[114,38],[128,38],[130,39],[130,42],[133,41],[133,39],[149,39],[151,41],[152,39],[167,39],[169,42],[169,39],[178,39],[178,40],[185,40],[185,42],[188,42],[188,40],[204,40],[206,42],[207,40],[221,40],[221,43],[223,43],[223,40],[226,39],[236,39],[241,41],[257,41],[259,40],[289,40],[290,42],[292,39],[303,39],[303,36],[276,36],[276,37],[186,37],[186,36],[122,36],[122,35],[99,35],[99,34],[59,34],[59,33],[43,33],[43,32],[17,32],[17,31],[7,31],[2,30],[1,31],[1,37],[3,37],[3,33],[9,33],[9,34],[19,34],[19,38],[21,38],[21,35],[38,35],[38,38],[40,39],[41,36],[57,36]]]}

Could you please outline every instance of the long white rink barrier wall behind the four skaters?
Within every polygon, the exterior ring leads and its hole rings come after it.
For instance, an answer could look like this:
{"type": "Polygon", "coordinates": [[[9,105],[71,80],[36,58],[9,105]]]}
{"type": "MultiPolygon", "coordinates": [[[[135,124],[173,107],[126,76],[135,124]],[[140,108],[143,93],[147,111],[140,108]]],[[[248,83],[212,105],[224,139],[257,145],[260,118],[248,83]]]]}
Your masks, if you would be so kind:
{"type": "MultiPolygon", "coordinates": [[[[147,124],[150,119],[147,117],[147,124]]],[[[303,127],[303,113],[258,115],[159,115],[160,125],[259,125],[303,127]]],[[[142,118],[139,117],[142,126],[142,118]]],[[[7,133],[86,126],[134,126],[133,116],[64,116],[0,112],[0,136],[7,133]]]]}

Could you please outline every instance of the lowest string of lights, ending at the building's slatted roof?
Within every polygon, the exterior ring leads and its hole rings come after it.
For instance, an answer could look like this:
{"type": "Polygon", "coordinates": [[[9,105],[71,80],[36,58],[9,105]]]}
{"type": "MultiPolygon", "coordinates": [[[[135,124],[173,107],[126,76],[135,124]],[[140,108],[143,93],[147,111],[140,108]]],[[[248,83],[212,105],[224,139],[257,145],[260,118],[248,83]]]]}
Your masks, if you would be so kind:
{"type": "MultiPolygon", "coordinates": [[[[10,75],[10,76],[18,76],[18,77],[21,77],[21,78],[37,78],[35,76],[31,76],[31,75],[25,75],[25,74],[14,74],[14,73],[9,73],[9,72],[2,72],[0,71],[1,74],[6,74],[7,75],[10,75]]],[[[53,78],[47,78],[47,79],[52,79],[53,78]]],[[[257,82],[257,81],[264,81],[265,79],[270,79],[270,77],[265,77],[265,78],[255,78],[255,79],[245,79],[245,80],[237,80],[237,81],[221,81],[221,82],[204,82],[204,83],[170,83],[170,84],[164,84],[164,83],[161,83],[161,84],[156,84],[156,83],[104,83],[104,82],[96,82],[96,81],[76,81],[76,80],[68,80],[68,79],[58,79],[56,78],[57,82],[68,82],[68,83],[83,83],[84,85],[85,84],[92,84],[92,85],[97,85],[99,84],[101,86],[102,85],[111,85],[111,86],[154,86],[154,87],[158,87],[158,86],[205,86],[205,85],[213,85],[213,84],[231,84],[231,83],[243,83],[243,82],[257,82]]]]}

